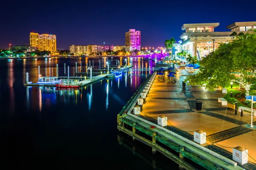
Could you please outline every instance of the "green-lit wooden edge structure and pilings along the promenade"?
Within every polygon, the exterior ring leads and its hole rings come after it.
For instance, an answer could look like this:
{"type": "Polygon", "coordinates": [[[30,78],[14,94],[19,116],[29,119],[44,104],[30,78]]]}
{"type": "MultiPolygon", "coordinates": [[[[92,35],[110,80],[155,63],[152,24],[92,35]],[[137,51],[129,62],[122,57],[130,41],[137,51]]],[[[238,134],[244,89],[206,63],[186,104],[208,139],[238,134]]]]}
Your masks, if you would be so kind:
{"type": "MultiPolygon", "coordinates": [[[[117,129],[132,136],[134,140],[152,147],[153,153],[158,151],[187,170],[196,170],[196,168],[186,162],[186,159],[208,170],[243,170],[244,168],[237,166],[235,161],[186,139],[167,127],[150,122],[145,116],[133,113],[134,106],[137,105],[137,101],[142,96],[141,93],[151,77],[155,77],[155,75],[151,74],[143,82],[143,85],[140,85],[140,88],[117,115],[117,129]],[[178,156],[174,154],[175,152],[178,153],[178,156]]],[[[145,98],[143,100],[145,101],[145,98]]]]}

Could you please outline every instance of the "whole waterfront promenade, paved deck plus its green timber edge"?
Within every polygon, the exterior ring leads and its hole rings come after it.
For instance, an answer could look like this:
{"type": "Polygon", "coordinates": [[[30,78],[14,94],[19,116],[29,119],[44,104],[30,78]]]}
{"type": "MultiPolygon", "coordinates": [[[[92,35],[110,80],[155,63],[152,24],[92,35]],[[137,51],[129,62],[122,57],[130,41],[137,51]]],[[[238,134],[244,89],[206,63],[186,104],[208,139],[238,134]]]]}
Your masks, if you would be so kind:
{"type": "Polygon", "coordinates": [[[256,130],[244,127],[250,116],[239,117],[234,110],[221,105],[221,91],[211,93],[200,87],[183,87],[186,70],[178,71],[176,83],[158,81],[155,73],[148,77],[117,115],[117,129],[187,170],[197,169],[187,159],[208,170],[256,169],[256,130]],[[201,111],[195,109],[195,101],[203,102],[201,111]],[[158,117],[166,118],[167,125],[160,126],[158,117]],[[204,144],[194,141],[197,131],[206,132],[204,144]],[[252,157],[248,156],[246,164],[233,160],[232,151],[238,146],[248,149],[252,157]]]}

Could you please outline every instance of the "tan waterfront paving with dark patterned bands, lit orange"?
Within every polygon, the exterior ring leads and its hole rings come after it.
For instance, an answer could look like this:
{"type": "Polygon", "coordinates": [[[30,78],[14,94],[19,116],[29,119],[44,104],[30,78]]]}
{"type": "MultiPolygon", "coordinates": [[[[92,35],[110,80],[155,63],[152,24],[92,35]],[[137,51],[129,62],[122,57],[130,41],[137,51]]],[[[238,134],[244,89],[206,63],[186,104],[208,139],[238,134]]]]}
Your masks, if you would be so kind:
{"type": "MultiPolygon", "coordinates": [[[[141,116],[157,123],[157,116],[164,115],[168,118],[168,129],[190,140],[193,140],[193,131],[203,130],[207,133],[207,143],[203,146],[230,159],[232,148],[227,147],[237,146],[248,149],[249,155],[256,159],[256,130],[244,127],[250,123],[250,115],[245,113],[241,117],[239,112],[235,115],[233,109],[221,105],[221,102],[218,102],[218,97],[224,95],[221,90],[209,92],[203,87],[187,85],[183,89],[182,81],[188,71],[178,71],[180,74],[175,74],[176,83],[157,81],[156,77],[143,105],[141,116]],[[195,100],[203,102],[201,111],[196,111],[195,100]]],[[[256,116],[253,121],[256,125],[256,116]]],[[[247,164],[239,166],[256,170],[256,161],[253,159],[249,157],[247,164]]]]}

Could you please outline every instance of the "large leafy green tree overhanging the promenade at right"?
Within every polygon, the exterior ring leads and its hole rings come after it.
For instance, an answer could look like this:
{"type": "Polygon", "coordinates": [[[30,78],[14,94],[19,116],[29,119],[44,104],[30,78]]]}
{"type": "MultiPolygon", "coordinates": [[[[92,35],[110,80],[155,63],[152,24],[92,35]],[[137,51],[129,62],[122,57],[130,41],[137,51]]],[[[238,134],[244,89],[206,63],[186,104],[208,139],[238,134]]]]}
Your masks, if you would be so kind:
{"type": "MultiPolygon", "coordinates": [[[[235,73],[240,74],[244,87],[256,83],[256,34],[237,36],[228,44],[221,44],[217,50],[200,62],[197,74],[189,75],[186,82],[190,85],[205,86],[213,91],[217,85],[226,87],[235,81],[235,73]]],[[[248,90],[248,89],[246,89],[248,90]]]]}

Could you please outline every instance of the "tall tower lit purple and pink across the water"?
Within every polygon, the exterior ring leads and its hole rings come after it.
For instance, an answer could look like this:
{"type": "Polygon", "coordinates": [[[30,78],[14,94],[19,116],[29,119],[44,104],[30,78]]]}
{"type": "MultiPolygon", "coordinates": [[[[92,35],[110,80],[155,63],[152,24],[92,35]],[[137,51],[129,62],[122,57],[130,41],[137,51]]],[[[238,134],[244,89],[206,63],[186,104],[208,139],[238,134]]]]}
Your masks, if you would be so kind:
{"type": "Polygon", "coordinates": [[[140,50],[141,37],[140,31],[135,31],[135,29],[130,29],[125,33],[125,50],[134,51],[140,50]]]}

